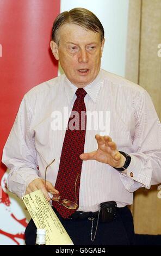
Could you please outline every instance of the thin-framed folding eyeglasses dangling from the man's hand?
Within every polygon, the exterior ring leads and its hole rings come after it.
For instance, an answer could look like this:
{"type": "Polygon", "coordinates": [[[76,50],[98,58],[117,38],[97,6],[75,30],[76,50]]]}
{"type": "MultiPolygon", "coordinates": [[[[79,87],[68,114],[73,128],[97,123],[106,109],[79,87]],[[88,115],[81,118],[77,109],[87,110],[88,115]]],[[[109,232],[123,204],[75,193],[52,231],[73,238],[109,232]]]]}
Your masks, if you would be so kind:
{"type": "MultiPolygon", "coordinates": [[[[48,166],[46,167],[45,169],[45,187],[46,187],[46,173],[47,173],[47,168],[49,166],[51,166],[51,164],[55,161],[55,159],[48,164],[48,166]]],[[[77,180],[78,180],[78,176],[79,176],[79,173],[77,174],[77,178],[76,178],[76,181],[75,181],[75,197],[76,197],[76,202],[72,202],[71,200],[67,200],[67,199],[63,199],[62,200],[62,203],[59,203],[59,200],[60,200],[60,194],[53,194],[53,192],[51,190],[48,190],[49,193],[52,194],[52,198],[49,197],[52,201],[55,201],[57,202],[59,205],[63,205],[64,207],[66,207],[67,209],[71,209],[71,210],[75,210],[77,209],[78,207],[78,204],[77,204],[77,191],[76,191],[76,184],[77,184],[77,180]]],[[[47,188],[46,188],[47,190],[47,188]]]]}

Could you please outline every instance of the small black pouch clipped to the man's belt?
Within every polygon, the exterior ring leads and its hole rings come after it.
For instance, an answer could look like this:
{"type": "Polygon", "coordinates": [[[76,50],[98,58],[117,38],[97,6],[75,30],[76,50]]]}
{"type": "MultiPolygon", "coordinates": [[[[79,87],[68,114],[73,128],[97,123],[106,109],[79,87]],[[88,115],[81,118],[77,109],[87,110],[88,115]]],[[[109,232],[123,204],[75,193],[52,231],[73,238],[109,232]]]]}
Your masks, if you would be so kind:
{"type": "Polygon", "coordinates": [[[104,202],[100,204],[100,221],[110,222],[116,218],[117,204],[115,201],[104,202]]]}

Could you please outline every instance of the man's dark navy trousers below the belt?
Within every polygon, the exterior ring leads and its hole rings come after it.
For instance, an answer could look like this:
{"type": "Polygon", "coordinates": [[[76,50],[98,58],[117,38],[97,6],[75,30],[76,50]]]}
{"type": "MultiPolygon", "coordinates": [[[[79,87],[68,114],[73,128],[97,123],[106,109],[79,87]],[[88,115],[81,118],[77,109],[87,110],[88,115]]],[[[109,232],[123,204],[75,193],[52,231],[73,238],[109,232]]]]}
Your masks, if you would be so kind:
{"type": "MultiPolygon", "coordinates": [[[[58,215],[74,245],[134,245],[134,225],[131,211],[127,206],[117,208],[117,218],[112,222],[98,222],[94,242],[91,241],[91,220],[64,220],[58,215]]],[[[95,234],[97,218],[94,220],[95,234]]],[[[35,245],[36,227],[30,220],[25,231],[26,245],[35,245]]]]}

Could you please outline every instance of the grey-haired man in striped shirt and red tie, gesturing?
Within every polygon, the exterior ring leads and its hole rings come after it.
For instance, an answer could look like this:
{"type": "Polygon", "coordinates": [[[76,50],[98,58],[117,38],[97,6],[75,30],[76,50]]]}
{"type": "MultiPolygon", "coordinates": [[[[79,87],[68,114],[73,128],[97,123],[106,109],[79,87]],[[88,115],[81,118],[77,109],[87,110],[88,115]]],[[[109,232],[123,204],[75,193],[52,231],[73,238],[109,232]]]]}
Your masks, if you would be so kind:
{"type": "MultiPolygon", "coordinates": [[[[24,96],[3,152],[9,190],[22,197],[41,189],[48,200],[51,192],[53,210],[75,245],[134,244],[127,205],[135,190],[161,182],[161,129],[150,96],[100,70],[103,46],[102,24],[89,10],[57,17],[51,49],[65,75],[24,96]],[[70,118],[64,114],[64,125],[55,129],[55,113],[65,107],[70,118]],[[104,136],[99,125],[89,124],[90,113],[97,121],[107,114],[104,136]],[[116,218],[105,213],[101,222],[100,204],[111,201],[116,218]]],[[[27,245],[35,243],[35,232],[30,221],[27,245]]]]}

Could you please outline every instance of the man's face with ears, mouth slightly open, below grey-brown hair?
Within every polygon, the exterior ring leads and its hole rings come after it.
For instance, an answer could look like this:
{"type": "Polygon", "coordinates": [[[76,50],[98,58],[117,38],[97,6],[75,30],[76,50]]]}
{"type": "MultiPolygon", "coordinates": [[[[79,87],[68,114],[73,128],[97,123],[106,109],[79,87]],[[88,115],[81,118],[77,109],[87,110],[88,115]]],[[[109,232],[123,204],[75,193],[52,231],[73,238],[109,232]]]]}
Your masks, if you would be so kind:
{"type": "Polygon", "coordinates": [[[55,58],[66,77],[78,88],[91,83],[100,71],[104,40],[100,33],[67,23],[58,32],[59,46],[51,41],[55,58]]]}

